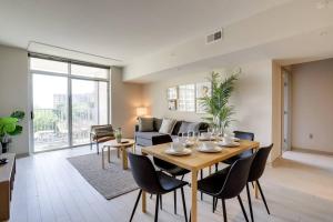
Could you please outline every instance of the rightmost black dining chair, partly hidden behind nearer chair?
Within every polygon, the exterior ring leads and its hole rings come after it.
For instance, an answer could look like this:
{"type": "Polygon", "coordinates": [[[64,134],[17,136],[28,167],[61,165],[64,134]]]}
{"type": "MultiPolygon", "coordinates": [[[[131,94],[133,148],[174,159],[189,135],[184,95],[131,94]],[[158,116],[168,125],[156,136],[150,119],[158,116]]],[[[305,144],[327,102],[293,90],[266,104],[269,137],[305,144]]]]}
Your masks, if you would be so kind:
{"type": "Polygon", "coordinates": [[[248,193],[249,208],[250,208],[250,214],[251,214],[252,222],[254,220],[253,220],[253,210],[252,210],[252,203],[251,203],[249,182],[251,182],[251,183],[255,182],[258,184],[258,188],[259,188],[261,198],[265,204],[266,211],[269,214],[271,214],[270,209],[266,203],[266,200],[265,200],[265,196],[262,192],[262,188],[259,183],[259,179],[262,176],[262,174],[265,170],[266,161],[268,161],[268,158],[269,158],[269,154],[270,154],[272,148],[273,148],[273,144],[259,149],[259,151],[255,153],[255,158],[254,158],[251,169],[250,169],[249,179],[248,179],[248,183],[246,183],[246,193],[248,193]]]}

